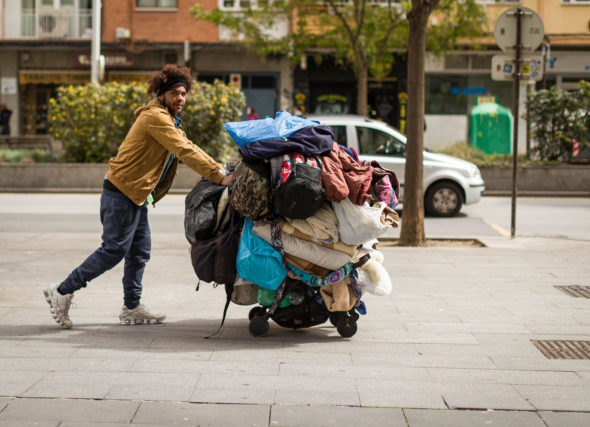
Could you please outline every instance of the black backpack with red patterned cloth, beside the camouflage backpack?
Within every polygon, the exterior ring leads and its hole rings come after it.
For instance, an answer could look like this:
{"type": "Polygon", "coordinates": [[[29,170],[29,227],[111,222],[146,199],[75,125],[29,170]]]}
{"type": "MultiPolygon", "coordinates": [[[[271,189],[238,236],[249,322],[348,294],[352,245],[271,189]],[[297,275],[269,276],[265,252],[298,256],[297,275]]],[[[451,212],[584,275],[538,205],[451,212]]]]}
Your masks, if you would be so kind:
{"type": "Polygon", "coordinates": [[[291,173],[287,181],[280,183],[283,154],[271,158],[271,206],[280,216],[304,220],[310,217],[323,203],[326,194],[322,188],[322,157],[286,153],[291,160],[291,173]],[[295,163],[295,154],[304,158],[295,163]],[[309,157],[317,160],[319,167],[307,163],[309,157]]]}

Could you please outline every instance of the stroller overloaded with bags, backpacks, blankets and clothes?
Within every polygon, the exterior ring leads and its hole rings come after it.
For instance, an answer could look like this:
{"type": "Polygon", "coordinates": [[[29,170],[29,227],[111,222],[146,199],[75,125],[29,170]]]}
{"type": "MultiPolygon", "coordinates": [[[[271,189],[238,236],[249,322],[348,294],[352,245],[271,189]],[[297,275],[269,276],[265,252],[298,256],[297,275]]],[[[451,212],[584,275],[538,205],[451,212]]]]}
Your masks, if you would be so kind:
{"type": "MultiPolygon", "coordinates": [[[[225,124],[240,162],[230,187],[201,178],[185,201],[185,234],[200,282],[230,302],[258,304],[248,329],[299,329],[330,320],[355,335],[364,292],[391,293],[377,238],[397,227],[399,182],[334,142],[332,128],[291,116],[225,124]]],[[[221,326],[219,327],[221,329],[221,326]]]]}

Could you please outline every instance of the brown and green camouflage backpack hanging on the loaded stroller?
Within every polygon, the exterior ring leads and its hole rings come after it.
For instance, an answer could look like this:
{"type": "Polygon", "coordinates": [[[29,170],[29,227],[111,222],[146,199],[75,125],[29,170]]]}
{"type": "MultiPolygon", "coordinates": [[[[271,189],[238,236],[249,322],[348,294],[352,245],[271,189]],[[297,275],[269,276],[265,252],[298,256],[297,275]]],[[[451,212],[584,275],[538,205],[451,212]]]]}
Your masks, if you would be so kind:
{"type": "Polygon", "coordinates": [[[231,206],[243,216],[257,219],[270,203],[270,167],[261,161],[242,160],[235,167],[231,206]]]}

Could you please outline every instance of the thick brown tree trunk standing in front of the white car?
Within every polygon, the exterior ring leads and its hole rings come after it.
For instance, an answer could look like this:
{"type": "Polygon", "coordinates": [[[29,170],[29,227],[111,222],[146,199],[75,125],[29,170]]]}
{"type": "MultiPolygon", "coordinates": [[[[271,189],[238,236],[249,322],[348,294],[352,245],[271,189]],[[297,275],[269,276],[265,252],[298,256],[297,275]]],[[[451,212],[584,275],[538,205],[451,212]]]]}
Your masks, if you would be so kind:
{"type": "Polygon", "coordinates": [[[408,143],[404,181],[404,211],[399,246],[424,246],[424,64],[430,11],[412,8],[408,44],[408,143]]]}

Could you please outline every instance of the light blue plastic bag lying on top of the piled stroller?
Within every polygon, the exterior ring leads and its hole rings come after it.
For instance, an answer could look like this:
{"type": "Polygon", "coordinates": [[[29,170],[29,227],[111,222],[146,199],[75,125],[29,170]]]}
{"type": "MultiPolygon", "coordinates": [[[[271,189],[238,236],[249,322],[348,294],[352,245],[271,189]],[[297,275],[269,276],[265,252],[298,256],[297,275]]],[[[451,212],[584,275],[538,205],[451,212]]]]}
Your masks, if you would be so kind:
{"type": "Polygon", "coordinates": [[[287,111],[278,111],[274,119],[267,117],[260,120],[232,121],[223,127],[234,143],[245,147],[254,141],[290,137],[305,127],[317,124],[320,124],[319,121],[297,117],[287,111]]]}

